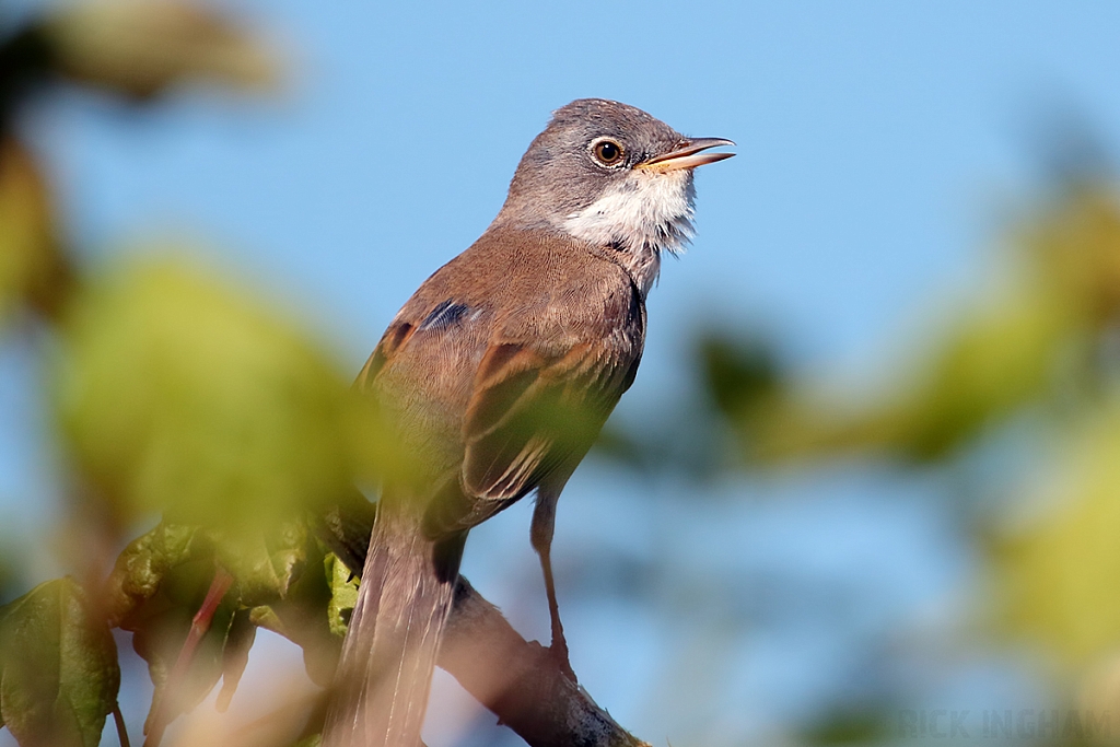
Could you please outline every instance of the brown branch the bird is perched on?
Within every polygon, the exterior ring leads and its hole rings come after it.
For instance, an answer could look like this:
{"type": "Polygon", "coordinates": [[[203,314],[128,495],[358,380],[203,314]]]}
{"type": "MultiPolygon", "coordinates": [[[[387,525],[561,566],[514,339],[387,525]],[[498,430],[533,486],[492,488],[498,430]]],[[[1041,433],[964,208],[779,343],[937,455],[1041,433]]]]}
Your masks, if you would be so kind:
{"type": "MultiPolygon", "coordinates": [[[[365,566],[374,511],[355,494],[315,527],[356,572],[365,566]]],[[[461,576],[438,663],[530,747],[645,746],[569,680],[548,648],[521,637],[461,576]]]]}

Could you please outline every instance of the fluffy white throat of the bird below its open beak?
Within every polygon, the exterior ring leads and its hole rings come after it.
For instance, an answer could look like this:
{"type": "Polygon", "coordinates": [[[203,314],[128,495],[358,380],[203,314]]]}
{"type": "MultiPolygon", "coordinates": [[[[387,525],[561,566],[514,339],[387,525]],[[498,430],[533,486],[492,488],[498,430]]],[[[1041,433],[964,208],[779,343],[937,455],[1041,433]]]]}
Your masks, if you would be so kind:
{"type": "Polygon", "coordinates": [[[683,252],[692,239],[696,189],[687,169],[634,170],[584,209],[568,215],[564,231],[618,251],[645,298],[661,271],[661,252],[683,252]]]}

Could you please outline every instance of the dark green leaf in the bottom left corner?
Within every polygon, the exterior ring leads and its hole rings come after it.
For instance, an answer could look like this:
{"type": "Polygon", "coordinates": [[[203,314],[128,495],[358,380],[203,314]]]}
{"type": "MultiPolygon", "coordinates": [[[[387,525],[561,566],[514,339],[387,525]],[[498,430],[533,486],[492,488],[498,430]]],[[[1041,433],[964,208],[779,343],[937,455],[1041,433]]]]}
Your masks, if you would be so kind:
{"type": "Polygon", "coordinates": [[[0,608],[0,723],[20,745],[96,747],[120,682],[109,626],[73,579],[0,608]]]}

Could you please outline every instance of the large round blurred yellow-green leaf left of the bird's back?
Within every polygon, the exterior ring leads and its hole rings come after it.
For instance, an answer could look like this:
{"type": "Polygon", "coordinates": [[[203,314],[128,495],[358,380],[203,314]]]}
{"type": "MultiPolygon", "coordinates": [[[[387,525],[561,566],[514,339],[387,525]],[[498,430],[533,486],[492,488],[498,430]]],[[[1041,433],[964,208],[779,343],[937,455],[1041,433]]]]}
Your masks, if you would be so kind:
{"type": "Polygon", "coordinates": [[[125,519],[268,530],[373,477],[366,401],[243,290],[127,264],[75,295],[62,330],[62,432],[125,519]]]}

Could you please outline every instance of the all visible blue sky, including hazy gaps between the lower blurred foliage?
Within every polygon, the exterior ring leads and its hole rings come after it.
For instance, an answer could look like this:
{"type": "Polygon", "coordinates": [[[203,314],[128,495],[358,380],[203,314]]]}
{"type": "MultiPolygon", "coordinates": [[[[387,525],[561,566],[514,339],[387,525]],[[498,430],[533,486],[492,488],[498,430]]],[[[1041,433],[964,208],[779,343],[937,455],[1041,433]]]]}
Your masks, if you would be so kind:
{"type": "MultiPolygon", "coordinates": [[[[689,375],[690,332],[711,320],[764,330],[809,373],[859,362],[870,370],[884,339],[903,338],[934,299],[977,287],[997,267],[991,244],[1002,221],[1043,183],[1042,134],[1055,112],[1083,118],[1107,144],[1120,122],[1120,6],[1103,2],[226,7],[281,50],[291,81],[281,95],[245,101],[186,92],[139,111],[93,96],[55,97],[24,122],[49,156],[67,230],[91,261],[152,236],[198,243],[306,314],[356,372],[419,282],[485,230],[549,112],[576,97],[617,99],[685,133],[739,143],[737,158],[699,175],[698,237],[681,261],[666,262],[651,295],[647,356],[620,407],[629,418],[673,402],[689,375]]],[[[28,505],[49,494],[48,468],[27,439],[28,428],[41,432],[34,380],[26,356],[0,352],[0,409],[12,413],[0,419],[0,516],[8,527],[41,522],[41,510],[28,505]]],[[[606,473],[591,466],[566,494],[561,567],[564,557],[578,566],[572,558],[586,543],[601,554],[635,521],[625,511],[599,516],[612,499],[604,484],[628,495],[617,505],[642,512],[643,526],[654,522],[641,487],[606,473]],[[587,530],[596,522],[617,531],[587,530]]],[[[834,484],[725,486],[749,494],[755,507],[735,508],[713,525],[734,514],[752,547],[772,550],[744,551],[743,562],[757,572],[786,562],[793,575],[812,576],[819,566],[855,579],[877,564],[874,553],[851,560],[859,553],[822,540],[850,522],[872,547],[893,552],[908,579],[872,579],[869,589],[928,583],[934,599],[952,596],[967,552],[940,534],[942,519],[921,497],[926,487],[834,484]],[[851,499],[836,497],[846,489],[851,499]],[[771,493],[791,493],[793,507],[759,507],[771,493]],[[808,495],[837,501],[830,511],[840,515],[820,521],[808,495]],[[759,535],[758,522],[774,533],[759,535]],[[890,550],[893,536],[913,542],[890,550]]],[[[669,504],[662,495],[652,505],[672,512],[669,504]]],[[[512,599],[501,590],[510,563],[496,548],[520,553],[517,562],[529,563],[522,576],[533,582],[535,564],[528,514],[511,516],[473,539],[467,562],[493,578],[495,596],[512,599]]],[[[681,542],[679,557],[702,544],[681,542]]],[[[734,538],[713,547],[738,558],[734,538]]],[[[922,607],[930,595],[917,596],[890,598],[905,615],[936,617],[922,607]]],[[[595,631],[569,624],[576,669],[601,670],[589,689],[651,738],[668,735],[676,744],[674,734],[703,734],[721,744],[766,734],[772,721],[820,702],[806,693],[838,689],[847,671],[843,663],[824,666],[834,680],[824,684],[808,674],[814,661],[842,657],[848,638],[809,628],[797,638],[781,626],[773,641],[744,638],[743,670],[759,682],[720,690],[750,693],[754,710],[728,706],[726,723],[698,726],[666,715],[656,688],[636,690],[618,679],[622,670],[596,663],[617,653],[636,660],[634,676],[668,671],[659,669],[661,623],[625,623],[623,613],[603,611],[608,601],[589,598],[570,613],[595,631]],[[647,639],[636,633],[642,625],[652,631],[647,639]],[[613,626],[631,639],[612,635],[613,626]],[[790,652],[806,642],[818,646],[809,648],[818,652],[813,660],[790,664],[790,652]],[[772,703],[767,710],[766,698],[784,692],[773,682],[785,674],[788,712],[772,703]]],[[[543,613],[543,595],[540,603],[543,613]]],[[[886,628],[900,625],[884,615],[886,628]]],[[[532,627],[545,618],[534,611],[526,619],[532,627]]],[[[865,623],[852,623],[852,635],[879,629],[865,623]]]]}

